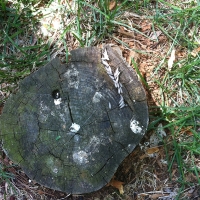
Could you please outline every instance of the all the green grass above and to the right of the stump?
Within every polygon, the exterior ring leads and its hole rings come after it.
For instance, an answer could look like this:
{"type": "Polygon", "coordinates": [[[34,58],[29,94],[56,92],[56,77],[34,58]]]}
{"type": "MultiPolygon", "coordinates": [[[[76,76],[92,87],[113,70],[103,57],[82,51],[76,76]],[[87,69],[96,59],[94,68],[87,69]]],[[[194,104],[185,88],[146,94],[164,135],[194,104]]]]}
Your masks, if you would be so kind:
{"type": "MultiPolygon", "coordinates": [[[[178,166],[179,193],[188,185],[200,184],[200,54],[193,54],[200,45],[200,2],[125,0],[117,1],[112,9],[109,0],[64,2],[1,0],[0,91],[4,96],[0,100],[5,101],[20,79],[47,63],[52,55],[67,61],[71,49],[108,40],[131,49],[118,37],[120,26],[150,39],[134,21],[124,17],[124,12],[145,16],[154,32],[156,29],[165,34],[170,46],[152,74],[160,90],[161,112],[153,116],[149,130],[155,130],[161,122],[170,133],[164,141],[166,159],[171,175],[173,167],[178,166]],[[172,49],[183,51],[184,56],[169,70],[167,61],[172,49]],[[188,173],[196,176],[197,183],[187,181],[188,173]]],[[[141,77],[136,63],[134,67],[141,77]]],[[[8,180],[10,175],[0,172],[2,179],[8,180]]]]}

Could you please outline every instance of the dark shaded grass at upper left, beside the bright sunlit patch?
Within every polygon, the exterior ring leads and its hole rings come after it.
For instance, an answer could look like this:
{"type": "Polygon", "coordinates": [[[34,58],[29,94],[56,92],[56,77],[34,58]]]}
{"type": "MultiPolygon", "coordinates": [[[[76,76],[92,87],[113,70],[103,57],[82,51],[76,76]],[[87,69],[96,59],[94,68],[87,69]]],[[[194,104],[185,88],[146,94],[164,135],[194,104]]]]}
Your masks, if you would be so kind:
{"type": "Polygon", "coordinates": [[[34,38],[37,21],[28,8],[19,11],[1,1],[0,12],[0,84],[7,84],[3,90],[9,91],[47,62],[49,49],[48,44],[34,38]]]}

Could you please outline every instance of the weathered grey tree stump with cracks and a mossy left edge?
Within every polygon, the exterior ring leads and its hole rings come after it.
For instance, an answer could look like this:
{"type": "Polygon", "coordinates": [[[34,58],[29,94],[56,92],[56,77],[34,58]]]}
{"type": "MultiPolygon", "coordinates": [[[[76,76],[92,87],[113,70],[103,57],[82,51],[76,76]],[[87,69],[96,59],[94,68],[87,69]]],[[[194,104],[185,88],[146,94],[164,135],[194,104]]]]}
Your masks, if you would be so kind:
{"type": "Polygon", "coordinates": [[[101,63],[101,50],[81,48],[21,81],[0,119],[6,154],[38,183],[67,193],[88,193],[110,181],[148,125],[144,89],[135,71],[106,46],[119,68],[120,96],[101,63]]]}

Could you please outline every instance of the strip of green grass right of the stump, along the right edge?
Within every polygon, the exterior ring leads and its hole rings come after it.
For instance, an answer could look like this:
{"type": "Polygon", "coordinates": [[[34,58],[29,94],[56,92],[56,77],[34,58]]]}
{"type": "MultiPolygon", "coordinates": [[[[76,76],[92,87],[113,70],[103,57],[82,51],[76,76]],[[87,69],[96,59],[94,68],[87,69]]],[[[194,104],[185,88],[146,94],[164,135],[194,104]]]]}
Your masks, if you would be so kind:
{"type": "MultiPolygon", "coordinates": [[[[200,57],[199,54],[191,55],[200,44],[199,20],[196,20],[200,18],[200,7],[194,2],[187,7],[181,2],[178,3],[178,7],[164,1],[159,3],[166,7],[156,8],[155,25],[171,40],[172,48],[181,47],[188,52],[187,57],[174,63],[171,71],[165,72],[163,80],[156,80],[163,95],[162,119],[167,121],[165,128],[168,128],[172,134],[170,137],[172,137],[174,155],[173,158],[168,159],[169,172],[172,173],[174,163],[179,166],[178,181],[182,185],[182,191],[187,184],[192,184],[186,181],[188,171],[196,175],[200,184],[200,169],[194,162],[200,155],[200,57]],[[186,155],[190,155],[191,163],[186,161],[186,155]]],[[[166,68],[166,62],[163,60],[158,69],[162,68],[166,68]]],[[[166,153],[168,153],[167,148],[166,153]]]]}

